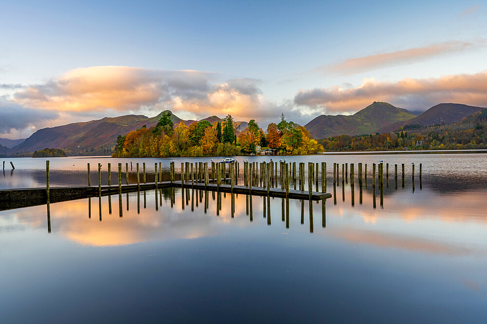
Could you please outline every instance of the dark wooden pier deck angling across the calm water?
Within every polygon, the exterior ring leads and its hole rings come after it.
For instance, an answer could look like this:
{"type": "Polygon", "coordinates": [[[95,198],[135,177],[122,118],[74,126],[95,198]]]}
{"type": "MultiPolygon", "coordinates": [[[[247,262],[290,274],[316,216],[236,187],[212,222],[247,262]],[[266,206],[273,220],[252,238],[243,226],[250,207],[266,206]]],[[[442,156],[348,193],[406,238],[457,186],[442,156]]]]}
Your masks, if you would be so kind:
{"type": "MultiPolygon", "coordinates": [[[[118,194],[118,185],[101,186],[101,195],[115,195],[118,194]]],[[[141,183],[140,191],[154,190],[155,183],[141,183]]],[[[158,182],[157,188],[181,188],[181,181],[164,181],[158,182]]],[[[185,182],[183,188],[193,188],[197,190],[233,192],[238,194],[250,194],[253,196],[267,196],[267,188],[248,186],[234,186],[221,184],[218,188],[217,184],[209,183],[194,183],[185,182]]],[[[129,184],[121,186],[122,193],[137,192],[137,184],[129,184]]],[[[98,186],[62,186],[49,188],[50,203],[57,203],[69,200],[83,199],[89,197],[97,197],[98,186]]],[[[270,188],[269,197],[286,198],[286,190],[284,188],[270,188]]],[[[312,192],[311,200],[319,201],[322,199],[331,198],[332,195],[326,192],[312,192]]],[[[287,198],[309,200],[309,191],[292,190],[289,189],[287,198]]],[[[15,209],[21,207],[29,207],[35,205],[44,205],[47,203],[46,188],[16,188],[16,189],[1,189],[0,190],[0,210],[15,209]]]]}

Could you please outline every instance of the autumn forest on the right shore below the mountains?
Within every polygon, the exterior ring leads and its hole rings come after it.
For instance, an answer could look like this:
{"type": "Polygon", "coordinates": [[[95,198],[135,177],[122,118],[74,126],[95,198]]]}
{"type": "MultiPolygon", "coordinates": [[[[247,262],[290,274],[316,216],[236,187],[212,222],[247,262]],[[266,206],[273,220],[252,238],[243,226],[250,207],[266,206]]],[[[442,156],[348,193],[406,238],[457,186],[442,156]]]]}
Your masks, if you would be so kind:
{"type": "Polygon", "coordinates": [[[487,149],[487,109],[447,125],[406,125],[395,132],[332,136],[320,140],[325,152],[487,149]]]}

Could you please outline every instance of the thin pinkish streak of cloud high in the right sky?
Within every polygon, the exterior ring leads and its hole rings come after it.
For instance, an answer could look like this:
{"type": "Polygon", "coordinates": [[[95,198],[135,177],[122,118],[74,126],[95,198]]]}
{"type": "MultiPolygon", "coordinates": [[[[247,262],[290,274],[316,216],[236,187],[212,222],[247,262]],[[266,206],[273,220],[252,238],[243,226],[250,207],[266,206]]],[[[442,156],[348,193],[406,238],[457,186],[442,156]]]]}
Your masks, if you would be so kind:
{"type": "Polygon", "coordinates": [[[380,53],[369,56],[351,58],[333,65],[324,65],[315,70],[325,73],[348,75],[377,68],[387,68],[398,65],[423,61],[443,54],[451,54],[486,45],[485,40],[476,42],[449,41],[416,47],[403,51],[380,53]]]}

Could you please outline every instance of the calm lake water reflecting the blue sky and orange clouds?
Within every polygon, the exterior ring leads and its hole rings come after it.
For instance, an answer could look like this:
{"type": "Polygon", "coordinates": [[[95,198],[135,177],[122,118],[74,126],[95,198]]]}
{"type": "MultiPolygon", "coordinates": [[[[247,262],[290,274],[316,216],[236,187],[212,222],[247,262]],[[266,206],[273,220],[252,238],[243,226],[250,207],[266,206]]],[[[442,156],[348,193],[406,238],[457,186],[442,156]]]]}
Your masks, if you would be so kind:
{"type": "MultiPolygon", "coordinates": [[[[334,196],[310,210],[307,201],[166,188],[123,194],[121,210],[118,195],[50,204],[49,224],[46,205],[0,211],[0,322],[484,321],[485,153],[272,158],[327,162],[334,196]],[[372,164],[382,159],[389,178],[374,207],[372,164]],[[357,172],[359,162],[368,164],[361,204],[358,178],[354,200],[341,182],[341,164],[357,172]]],[[[132,163],[133,183],[136,163],[153,173],[154,163],[167,172],[171,161],[211,159],[50,158],[50,182],[86,185],[87,163],[97,185],[98,163],[106,184],[109,162],[124,172],[132,163]]],[[[45,186],[45,158],[2,160],[0,189],[45,186]]]]}

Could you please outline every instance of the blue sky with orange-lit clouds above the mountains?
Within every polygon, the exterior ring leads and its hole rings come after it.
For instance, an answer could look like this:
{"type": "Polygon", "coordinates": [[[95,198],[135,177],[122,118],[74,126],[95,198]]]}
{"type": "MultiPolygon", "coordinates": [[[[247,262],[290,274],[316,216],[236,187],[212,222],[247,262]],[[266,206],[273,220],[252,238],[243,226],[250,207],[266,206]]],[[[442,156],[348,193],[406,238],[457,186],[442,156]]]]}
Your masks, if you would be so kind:
{"type": "Polygon", "coordinates": [[[487,2],[2,1],[0,137],[127,114],[487,107],[487,2]]]}

